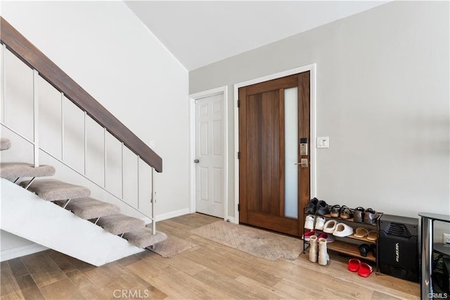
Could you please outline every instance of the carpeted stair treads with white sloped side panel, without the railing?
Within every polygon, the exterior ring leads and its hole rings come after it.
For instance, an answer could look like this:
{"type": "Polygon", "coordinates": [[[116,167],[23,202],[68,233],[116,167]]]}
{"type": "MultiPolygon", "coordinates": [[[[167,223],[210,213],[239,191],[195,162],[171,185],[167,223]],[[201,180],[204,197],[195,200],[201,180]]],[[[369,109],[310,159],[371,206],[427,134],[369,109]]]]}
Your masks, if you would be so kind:
{"type": "MultiPolygon", "coordinates": [[[[1,151],[10,148],[11,141],[1,138],[1,151]]],[[[93,265],[167,239],[164,233],[146,227],[143,220],[121,214],[118,206],[89,197],[91,191],[86,187],[41,178],[55,173],[51,165],[0,163],[2,230],[93,265]]]]}

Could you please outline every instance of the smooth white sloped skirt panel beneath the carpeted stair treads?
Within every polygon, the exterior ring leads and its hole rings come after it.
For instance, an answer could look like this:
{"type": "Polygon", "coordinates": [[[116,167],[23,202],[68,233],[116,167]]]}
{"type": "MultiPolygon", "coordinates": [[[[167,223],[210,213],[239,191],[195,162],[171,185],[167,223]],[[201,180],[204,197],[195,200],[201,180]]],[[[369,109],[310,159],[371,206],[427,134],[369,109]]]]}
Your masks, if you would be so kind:
{"type": "Polygon", "coordinates": [[[4,178],[1,229],[96,266],[144,251],[4,178]]]}

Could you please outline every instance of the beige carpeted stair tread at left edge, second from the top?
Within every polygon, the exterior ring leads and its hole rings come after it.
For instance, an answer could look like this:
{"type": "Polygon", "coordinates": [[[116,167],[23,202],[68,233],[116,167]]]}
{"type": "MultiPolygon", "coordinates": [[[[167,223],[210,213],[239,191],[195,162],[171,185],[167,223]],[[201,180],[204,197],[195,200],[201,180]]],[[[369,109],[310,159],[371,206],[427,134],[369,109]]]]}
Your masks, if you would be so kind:
{"type": "Polygon", "coordinates": [[[32,163],[1,163],[2,178],[45,177],[55,175],[55,168],[51,165],[39,165],[34,168],[32,163]]]}

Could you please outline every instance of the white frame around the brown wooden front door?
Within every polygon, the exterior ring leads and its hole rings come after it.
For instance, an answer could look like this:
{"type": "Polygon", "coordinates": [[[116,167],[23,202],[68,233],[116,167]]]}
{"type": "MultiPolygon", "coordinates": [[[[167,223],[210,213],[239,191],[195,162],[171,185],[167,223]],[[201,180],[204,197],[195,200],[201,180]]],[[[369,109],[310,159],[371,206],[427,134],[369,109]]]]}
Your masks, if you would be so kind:
{"type": "MultiPolygon", "coordinates": [[[[316,186],[316,63],[311,63],[309,65],[303,65],[298,68],[285,70],[280,73],[275,73],[267,75],[264,77],[255,78],[253,80],[248,80],[245,82],[239,82],[234,85],[234,150],[235,150],[235,160],[234,160],[234,219],[233,223],[239,224],[239,108],[238,108],[238,89],[240,87],[246,87],[248,85],[255,85],[256,83],[265,82],[269,80],[278,79],[281,77],[295,75],[297,73],[303,73],[309,71],[309,130],[310,130],[310,183],[309,183],[309,193],[311,198],[315,197],[317,194],[316,186]]],[[[298,218],[302,218],[301,215],[298,218]]]]}

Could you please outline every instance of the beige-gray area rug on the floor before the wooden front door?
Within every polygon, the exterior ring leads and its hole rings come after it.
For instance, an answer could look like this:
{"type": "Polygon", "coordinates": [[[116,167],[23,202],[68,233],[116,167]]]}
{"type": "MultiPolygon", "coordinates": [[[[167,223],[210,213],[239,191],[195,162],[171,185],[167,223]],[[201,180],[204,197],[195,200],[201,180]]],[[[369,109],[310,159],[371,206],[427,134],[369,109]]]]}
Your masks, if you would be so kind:
{"type": "Polygon", "coordinates": [[[191,233],[268,261],[281,257],[294,260],[303,251],[301,239],[224,221],[195,228],[191,233]]]}

